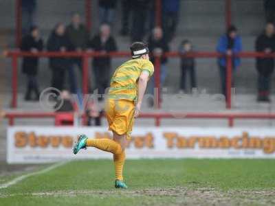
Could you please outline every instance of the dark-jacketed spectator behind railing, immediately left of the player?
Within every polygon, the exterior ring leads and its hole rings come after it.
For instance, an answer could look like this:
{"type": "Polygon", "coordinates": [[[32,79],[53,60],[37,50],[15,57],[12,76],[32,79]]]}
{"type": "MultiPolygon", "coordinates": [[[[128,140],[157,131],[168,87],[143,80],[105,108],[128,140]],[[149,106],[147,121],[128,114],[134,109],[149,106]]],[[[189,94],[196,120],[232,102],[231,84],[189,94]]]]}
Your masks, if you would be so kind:
{"type": "MultiPolygon", "coordinates": [[[[102,54],[107,52],[115,52],[117,50],[115,39],[111,36],[111,29],[109,25],[103,24],[100,26],[100,34],[91,39],[89,48],[102,54]]],[[[111,58],[95,57],[92,62],[92,68],[94,69],[96,79],[96,89],[98,89],[99,94],[104,94],[104,89],[109,87],[111,58]]]]}

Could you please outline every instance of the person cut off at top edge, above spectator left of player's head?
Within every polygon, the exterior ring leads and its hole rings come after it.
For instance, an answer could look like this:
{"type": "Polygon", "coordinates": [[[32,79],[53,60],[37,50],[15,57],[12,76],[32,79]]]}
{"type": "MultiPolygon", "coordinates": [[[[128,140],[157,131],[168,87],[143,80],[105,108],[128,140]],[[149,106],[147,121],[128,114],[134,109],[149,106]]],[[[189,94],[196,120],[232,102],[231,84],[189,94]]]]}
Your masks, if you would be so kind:
{"type": "Polygon", "coordinates": [[[107,23],[113,25],[115,17],[116,0],[99,0],[99,17],[100,23],[107,23]]]}

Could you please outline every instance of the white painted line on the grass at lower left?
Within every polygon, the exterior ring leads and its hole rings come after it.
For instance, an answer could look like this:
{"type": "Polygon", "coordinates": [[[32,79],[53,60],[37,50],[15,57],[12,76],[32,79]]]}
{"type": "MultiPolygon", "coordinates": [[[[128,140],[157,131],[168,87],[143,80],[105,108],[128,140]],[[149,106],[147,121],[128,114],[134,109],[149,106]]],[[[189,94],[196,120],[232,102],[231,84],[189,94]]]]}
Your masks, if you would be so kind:
{"type": "Polygon", "coordinates": [[[45,172],[50,172],[50,170],[54,170],[55,168],[58,168],[61,165],[64,165],[65,163],[68,163],[68,161],[62,161],[62,162],[55,163],[54,165],[50,165],[50,167],[45,168],[43,170],[39,170],[37,172],[32,172],[32,173],[29,173],[29,174],[23,174],[22,176],[18,176],[17,178],[14,178],[12,181],[9,181],[8,183],[1,184],[0,189],[10,187],[11,185],[15,185],[15,184],[19,183],[20,181],[23,181],[23,179],[26,179],[30,176],[34,176],[34,175],[37,175],[37,174],[43,174],[45,172]]]}

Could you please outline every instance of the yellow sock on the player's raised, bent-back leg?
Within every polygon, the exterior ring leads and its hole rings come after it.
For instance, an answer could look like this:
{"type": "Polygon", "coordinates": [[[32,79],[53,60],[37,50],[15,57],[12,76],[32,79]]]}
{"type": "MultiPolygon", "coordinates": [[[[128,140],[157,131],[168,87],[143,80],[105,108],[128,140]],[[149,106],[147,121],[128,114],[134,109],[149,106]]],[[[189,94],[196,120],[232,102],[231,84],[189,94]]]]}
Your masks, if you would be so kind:
{"type": "Polygon", "coordinates": [[[120,144],[113,141],[113,139],[92,139],[89,138],[86,141],[86,146],[95,147],[100,150],[111,152],[114,155],[119,155],[122,152],[120,144]]]}

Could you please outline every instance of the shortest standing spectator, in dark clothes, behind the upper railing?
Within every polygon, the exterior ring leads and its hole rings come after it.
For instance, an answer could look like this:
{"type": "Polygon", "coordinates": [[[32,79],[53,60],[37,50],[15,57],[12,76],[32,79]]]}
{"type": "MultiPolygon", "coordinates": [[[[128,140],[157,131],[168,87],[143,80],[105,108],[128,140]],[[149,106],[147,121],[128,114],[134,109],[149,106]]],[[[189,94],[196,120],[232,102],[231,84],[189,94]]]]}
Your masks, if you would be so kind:
{"type": "MultiPolygon", "coordinates": [[[[179,46],[179,53],[184,55],[192,52],[192,43],[188,40],[184,40],[181,42],[179,46]]],[[[189,73],[190,76],[190,90],[197,88],[197,80],[195,74],[195,59],[192,57],[181,58],[181,84],[180,89],[181,92],[186,93],[186,75],[189,73]]]]}

